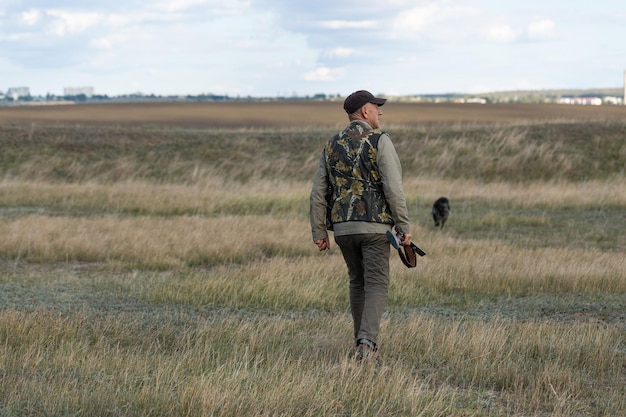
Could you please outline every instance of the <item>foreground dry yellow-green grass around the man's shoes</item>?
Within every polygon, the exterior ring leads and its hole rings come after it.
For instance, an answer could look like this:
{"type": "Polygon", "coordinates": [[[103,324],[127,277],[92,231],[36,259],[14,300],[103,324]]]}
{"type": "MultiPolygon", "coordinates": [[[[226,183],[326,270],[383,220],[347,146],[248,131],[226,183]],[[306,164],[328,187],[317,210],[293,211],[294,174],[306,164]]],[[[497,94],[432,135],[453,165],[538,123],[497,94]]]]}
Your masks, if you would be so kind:
{"type": "Polygon", "coordinates": [[[571,416],[626,405],[623,334],[593,323],[388,320],[394,343],[373,369],[351,361],[342,314],[1,314],[2,394],[16,414],[571,416]]]}

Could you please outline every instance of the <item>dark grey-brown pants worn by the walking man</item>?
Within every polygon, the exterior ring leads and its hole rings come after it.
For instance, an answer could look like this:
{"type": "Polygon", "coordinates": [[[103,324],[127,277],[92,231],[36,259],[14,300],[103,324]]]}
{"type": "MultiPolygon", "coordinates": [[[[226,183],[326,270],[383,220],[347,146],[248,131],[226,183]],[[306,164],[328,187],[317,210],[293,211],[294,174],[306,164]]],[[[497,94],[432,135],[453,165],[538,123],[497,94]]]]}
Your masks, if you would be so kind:
{"type": "Polygon", "coordinates": [[[389,241],[381,234],[335,236],[348,266],[354,338],[377,344],[389,290],[389,241]]]}

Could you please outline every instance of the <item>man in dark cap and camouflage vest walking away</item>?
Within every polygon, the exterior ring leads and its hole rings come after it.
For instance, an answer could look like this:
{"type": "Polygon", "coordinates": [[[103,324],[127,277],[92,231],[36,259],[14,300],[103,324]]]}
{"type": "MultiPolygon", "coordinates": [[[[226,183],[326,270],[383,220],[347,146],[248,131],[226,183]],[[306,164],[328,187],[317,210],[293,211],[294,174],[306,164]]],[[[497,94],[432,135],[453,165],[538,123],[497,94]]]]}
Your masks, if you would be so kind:
{"type": "Polygon", "coordinates": [[[386,233],[395,227],[402,244],[411,244],[400,160],[389,135],[379,130],[386,101],[365,90],[345,99],[350,124],[324,147],[309,200],[313,241],[321,251],[330,249],[327,229],[333,230],[348,267],[356,359],[378,364],[389,289],[386,233]]]}

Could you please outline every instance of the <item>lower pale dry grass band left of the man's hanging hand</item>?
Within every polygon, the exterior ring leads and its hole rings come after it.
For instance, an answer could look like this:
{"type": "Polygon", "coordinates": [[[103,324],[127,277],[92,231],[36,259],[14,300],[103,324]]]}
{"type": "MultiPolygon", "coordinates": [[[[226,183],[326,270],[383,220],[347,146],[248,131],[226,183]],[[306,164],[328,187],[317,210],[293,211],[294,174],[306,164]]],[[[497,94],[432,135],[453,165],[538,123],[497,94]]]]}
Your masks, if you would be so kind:
{"type": "Polygon", "coordinates": [[[302,222],[297,226],[258,216],[72,219],[35,215],[2,224],[5,238],[0,251],[34,262],[111,261],[147,268],[241,263],[308,252],[292,244],[306,233],[302,222]]]}

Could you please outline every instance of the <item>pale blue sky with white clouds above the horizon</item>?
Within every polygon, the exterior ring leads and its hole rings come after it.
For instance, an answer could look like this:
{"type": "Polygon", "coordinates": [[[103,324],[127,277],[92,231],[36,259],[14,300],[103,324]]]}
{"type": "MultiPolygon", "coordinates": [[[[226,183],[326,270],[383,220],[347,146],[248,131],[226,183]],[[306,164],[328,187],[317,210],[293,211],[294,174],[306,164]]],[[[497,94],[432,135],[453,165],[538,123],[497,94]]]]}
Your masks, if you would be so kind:
{"type": "Polygon", "coordinates": [[[0,0],[0,92],[617,88],[624,0],[0,0]]]}

